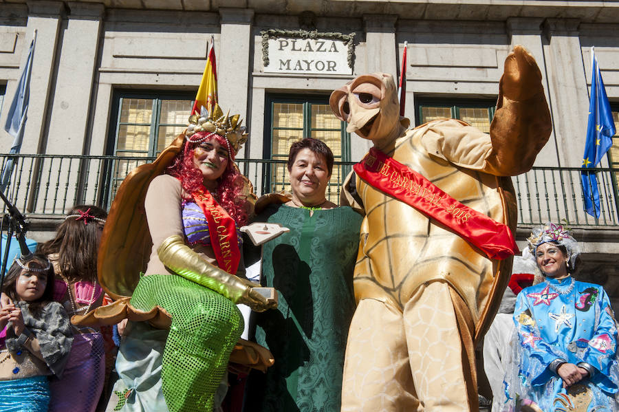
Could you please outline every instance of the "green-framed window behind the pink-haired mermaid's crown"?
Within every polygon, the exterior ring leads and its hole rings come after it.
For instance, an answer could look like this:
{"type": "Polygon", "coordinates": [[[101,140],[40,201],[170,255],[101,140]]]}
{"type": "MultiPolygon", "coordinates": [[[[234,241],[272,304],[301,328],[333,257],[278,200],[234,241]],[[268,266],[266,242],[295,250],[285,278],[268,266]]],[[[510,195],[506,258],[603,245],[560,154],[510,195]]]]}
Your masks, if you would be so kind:
{"type": "Polygon", "coordinates": [[[128,158],[110,166],[109,195],[113,198],[120,182],[135,167],[154,158],[187,127],[195,92],[136,94],[119,91],[114,96],[109,154],[128,158]]]}

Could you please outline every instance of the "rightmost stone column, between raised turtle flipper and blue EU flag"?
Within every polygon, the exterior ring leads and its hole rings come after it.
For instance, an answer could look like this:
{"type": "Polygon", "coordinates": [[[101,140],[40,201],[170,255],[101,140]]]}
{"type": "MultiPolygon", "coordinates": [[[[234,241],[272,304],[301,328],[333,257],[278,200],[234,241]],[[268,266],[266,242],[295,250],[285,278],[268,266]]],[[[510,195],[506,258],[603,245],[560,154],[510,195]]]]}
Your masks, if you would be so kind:
{"type": "Polygon", "coordinates": [[[585,152],[589,93],[577,19],[547,19],[544,32],[551,114],[558,166],[580,167],[585,152]]]}

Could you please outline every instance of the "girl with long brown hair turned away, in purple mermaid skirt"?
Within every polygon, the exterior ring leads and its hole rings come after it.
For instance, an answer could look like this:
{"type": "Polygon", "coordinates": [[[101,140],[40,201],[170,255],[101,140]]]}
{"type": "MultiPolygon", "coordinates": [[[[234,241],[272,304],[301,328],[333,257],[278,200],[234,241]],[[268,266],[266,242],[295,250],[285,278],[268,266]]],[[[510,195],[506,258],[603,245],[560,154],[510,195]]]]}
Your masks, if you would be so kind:
{"type": "MultiPolygon", "coordinates": [[[[74,206],[58,226],[56,237],[39,246],[56,274],[54,301],[69,316],[102,305],[97,252],[106,217],[105,210],[97,206],[74,206]]],[[[100,328],[72,327],[74,341],[63,378],[50,380],[50,412],[94,412],[105,383],[105,339],[100,328]]]]}

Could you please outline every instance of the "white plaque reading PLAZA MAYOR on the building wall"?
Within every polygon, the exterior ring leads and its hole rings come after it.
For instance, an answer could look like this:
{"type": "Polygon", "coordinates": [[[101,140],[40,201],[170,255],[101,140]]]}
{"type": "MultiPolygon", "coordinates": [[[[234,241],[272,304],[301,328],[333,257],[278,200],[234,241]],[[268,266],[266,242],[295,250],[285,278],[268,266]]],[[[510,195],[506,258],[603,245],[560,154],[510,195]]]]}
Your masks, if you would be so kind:
{"type": "Polygon", "coordinates": [[[268,73],[352,74],[348,46],[339,40],[269,39],[268,56],[268,73]]]}

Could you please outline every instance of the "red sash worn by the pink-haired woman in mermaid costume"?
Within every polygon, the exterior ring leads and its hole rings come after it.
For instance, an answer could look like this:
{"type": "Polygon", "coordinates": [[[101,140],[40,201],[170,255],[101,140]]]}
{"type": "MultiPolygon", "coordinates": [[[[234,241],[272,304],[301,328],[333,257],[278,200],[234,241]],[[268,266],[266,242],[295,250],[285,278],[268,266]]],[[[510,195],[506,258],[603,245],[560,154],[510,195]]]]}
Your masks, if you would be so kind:
{"type": "Polygon", "coordinates": [[[202,208],[208,222],[210,246],[213,246],[217,265],[230,274],[237,273],[241,261],[241,250],[239,250],[235,219],[232,219],[226,210],[215,202],[213,195],[208,193],[206,188],[193,193],[193,199],[202,208]]]}

